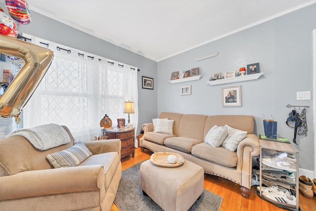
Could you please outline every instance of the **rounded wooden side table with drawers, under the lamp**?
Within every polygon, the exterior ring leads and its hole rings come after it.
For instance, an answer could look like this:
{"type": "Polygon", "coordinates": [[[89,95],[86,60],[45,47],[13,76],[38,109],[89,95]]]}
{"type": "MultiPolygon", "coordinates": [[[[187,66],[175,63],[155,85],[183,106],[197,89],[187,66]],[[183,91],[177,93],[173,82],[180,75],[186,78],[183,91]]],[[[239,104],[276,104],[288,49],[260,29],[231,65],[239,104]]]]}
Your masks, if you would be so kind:
{"type": "Polygon", "coordinates": [[[120,139],[121,141],[121,149],[120,149],[120,158],[125,158],[126,156],[132,154],[134,158],[135,152],[135,141],[134,141],[134,130],[135,127],[125,128],[125,129],[117,129],[114,130],[105,130],[102,129],[104,133],[109,137],[109,139],[120,139]]]}

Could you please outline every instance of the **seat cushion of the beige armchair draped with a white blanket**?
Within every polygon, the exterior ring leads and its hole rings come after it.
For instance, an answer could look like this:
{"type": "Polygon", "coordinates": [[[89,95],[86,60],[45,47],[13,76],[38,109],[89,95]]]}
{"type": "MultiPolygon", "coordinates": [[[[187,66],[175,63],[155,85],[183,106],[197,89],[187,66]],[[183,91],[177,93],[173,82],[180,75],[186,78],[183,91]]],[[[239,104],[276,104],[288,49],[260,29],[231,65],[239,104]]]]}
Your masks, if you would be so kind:
{"type": "Polygon", "coordinates": [[[104,187],[105,191],[107,191],[118,164],[120,165],[118,152],[107,152],[91,155],[78,166],[102,165],[104,168],[104,187]]]}

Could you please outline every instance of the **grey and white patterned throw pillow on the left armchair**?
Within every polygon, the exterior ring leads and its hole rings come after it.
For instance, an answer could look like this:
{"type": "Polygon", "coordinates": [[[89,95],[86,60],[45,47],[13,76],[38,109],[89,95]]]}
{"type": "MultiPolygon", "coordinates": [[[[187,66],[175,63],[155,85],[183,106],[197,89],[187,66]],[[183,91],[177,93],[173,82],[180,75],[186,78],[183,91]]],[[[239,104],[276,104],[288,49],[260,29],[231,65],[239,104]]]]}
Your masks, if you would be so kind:
{"type": "Polygon", "coordinates": [[[61,167],[76,167],[90,155],[92,155],[90,150],[84,145],[84,143],[79,141],[68,149],[48,154],[46,158],[56,169],[61,167]]]}

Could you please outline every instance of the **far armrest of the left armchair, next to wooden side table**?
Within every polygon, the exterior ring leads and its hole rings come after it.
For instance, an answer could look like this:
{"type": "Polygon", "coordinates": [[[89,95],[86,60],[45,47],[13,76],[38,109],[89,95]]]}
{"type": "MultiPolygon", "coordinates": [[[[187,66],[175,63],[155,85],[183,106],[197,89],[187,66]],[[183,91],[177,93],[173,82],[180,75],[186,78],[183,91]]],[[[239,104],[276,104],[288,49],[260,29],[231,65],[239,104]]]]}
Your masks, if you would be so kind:
{"type": "Polygon", "coordinates": [[[120,158],[120,139],[106,139],[98,141],[90,141],[84,143],[93,155],[102,154],[107,152],[118,152],[120,158]]]}

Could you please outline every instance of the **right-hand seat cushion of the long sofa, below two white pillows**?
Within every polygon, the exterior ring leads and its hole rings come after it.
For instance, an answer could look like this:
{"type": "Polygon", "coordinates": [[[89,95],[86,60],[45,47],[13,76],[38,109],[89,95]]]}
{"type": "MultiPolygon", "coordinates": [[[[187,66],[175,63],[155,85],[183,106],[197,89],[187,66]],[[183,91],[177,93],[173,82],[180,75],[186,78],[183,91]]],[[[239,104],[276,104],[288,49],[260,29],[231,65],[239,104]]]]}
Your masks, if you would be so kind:
{"type": "Polygon", "coordinates": [[[199,143],[192,147],[193,156],[225,167],[237,166],[237,152],[232,152],[222,146],[212,147],[208,143],[199,143]]]}

